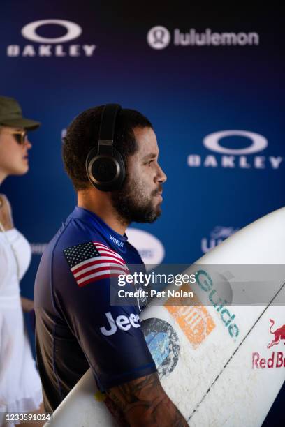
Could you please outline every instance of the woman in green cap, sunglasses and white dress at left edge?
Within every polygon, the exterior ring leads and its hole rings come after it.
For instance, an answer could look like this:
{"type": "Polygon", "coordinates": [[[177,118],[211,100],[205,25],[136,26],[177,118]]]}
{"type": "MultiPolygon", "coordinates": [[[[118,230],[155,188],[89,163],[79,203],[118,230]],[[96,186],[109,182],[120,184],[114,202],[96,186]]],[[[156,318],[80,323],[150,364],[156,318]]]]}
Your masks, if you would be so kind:
{"type": "MultiPolygon", "coordinates": [[[[27,130],[40,123],[24,119],[20,105],[13,98],[0,96],[0,185],[9,175],[23,175],[29,170],[31,143],[27,130]]],[[[43,414],[41,380],[31,354],[20,298],[20,280],[29,267],[31,248],[13,225],[10,203],[0,195],[0,426],[11,412],[43,414]]],[[[27,310],[32,301],[23,299],[27,310]]],[[[10,415],[9,415],[10,417],[10,415]]],[[[23,426],[43,426],[43,421],[25,422],[23,426]]]]}

